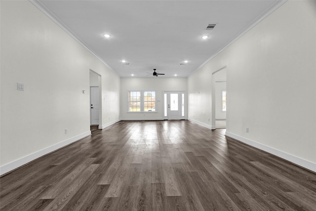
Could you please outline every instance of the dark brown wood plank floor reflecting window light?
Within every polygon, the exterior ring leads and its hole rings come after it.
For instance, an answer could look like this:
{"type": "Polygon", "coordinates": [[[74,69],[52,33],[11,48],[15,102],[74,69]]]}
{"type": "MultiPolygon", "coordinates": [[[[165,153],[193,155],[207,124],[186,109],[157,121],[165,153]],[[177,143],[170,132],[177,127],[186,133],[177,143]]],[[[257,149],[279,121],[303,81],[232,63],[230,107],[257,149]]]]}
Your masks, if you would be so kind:
{"type": "Polygon", "coordinates": [[[189,121],[118,122],[0,178],[1,211],[316,211],[316,174],[189,121]]]}

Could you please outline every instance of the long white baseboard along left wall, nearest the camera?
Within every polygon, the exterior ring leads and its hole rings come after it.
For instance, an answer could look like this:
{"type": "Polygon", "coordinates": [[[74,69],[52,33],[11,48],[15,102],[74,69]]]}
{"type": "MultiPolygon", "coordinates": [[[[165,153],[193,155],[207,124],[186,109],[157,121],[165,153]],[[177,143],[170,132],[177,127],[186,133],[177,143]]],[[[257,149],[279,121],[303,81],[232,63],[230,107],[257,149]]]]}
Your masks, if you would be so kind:
{"type": "Polygon", "coordinates": [[[5,165],[0,167],[0,175],[5,174],[5,173],[7,173],[9,171],[12,171],[14,169],[17,169],[19,167],[22,167],[25,164],[28,164],[28,163],[30,163],[30,162],[32,162],[32,161],[44,156],[44,155],[47,155],[47,154],[49,154],[51,152],[54,152],[54,151],[56,151],[56,150],[58,150],[58,149],[60,149],[62,147],[65,147],[65,146],[71,144],[71,143],[79,141],[80,139],[85,138],[85,137],[87,137],[89,135],[91,135],[91,131],[90,130],[86,131],[86,132],[84,132],[82,134],[79,134],[79,135],[77,135],[75,137],[72,137],[72,138],[69,138],[69,139],[64,140],[62,142],[59,142],[57,144],[54,144],[54,145],[52,145],[50,147],[44,148],[44,149],[42,149],[40,151],[37,151],[37,152],[35,152],[33,154],[27,155],[27,156],[25,156],[23,158],[20,158],[20,159],[16,160],[16,161],[13,161],[11,163],[5,164],[5,165]]]}

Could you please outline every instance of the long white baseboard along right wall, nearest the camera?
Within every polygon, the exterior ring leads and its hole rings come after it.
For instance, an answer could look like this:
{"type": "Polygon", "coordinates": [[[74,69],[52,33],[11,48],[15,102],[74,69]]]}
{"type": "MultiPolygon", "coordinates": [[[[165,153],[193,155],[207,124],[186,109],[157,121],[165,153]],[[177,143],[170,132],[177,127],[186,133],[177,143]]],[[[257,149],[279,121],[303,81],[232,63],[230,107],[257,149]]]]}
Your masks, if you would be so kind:
{"type": "Polygon", "coordinates": [[[255,147],[257,149],[260,149],[260,150],[263,150],[263,151],[268,152],[270,154],[273,154],[276,157],[282,158],[282,159],[289,161],[295,165],[298,165],[298,166],[303,167],[305,169],[309,169],[311,171],[316,172],[316,164],[313,162],[310,162],[310,161],[304,160],[302,158],[296,157],[294,155],[279,151],[279,150],[274,149],[272,147],[257,143],[255,141],[249,140],[247,138],[241,137],[239,135],[236,135],[236,134],[233,134],[233,133],[230,133],[227,131],[226,131],[225,135],[228,137],[234,138],[237,141],[240,141],[242,143],[245,143],[245,144],[248,144],[252,147],[255,147]]]}

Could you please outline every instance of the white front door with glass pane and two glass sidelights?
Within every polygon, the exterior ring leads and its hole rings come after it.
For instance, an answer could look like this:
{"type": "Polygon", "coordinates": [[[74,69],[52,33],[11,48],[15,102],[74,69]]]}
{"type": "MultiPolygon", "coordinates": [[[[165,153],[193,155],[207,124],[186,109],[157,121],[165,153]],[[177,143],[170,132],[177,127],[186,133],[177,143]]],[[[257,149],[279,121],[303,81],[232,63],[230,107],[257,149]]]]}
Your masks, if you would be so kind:
{"type": "Polygon", "coordinates": [[[163,92],[163,119],[184,120],[185,119],[185,92],[165,91],[163,92]]]}

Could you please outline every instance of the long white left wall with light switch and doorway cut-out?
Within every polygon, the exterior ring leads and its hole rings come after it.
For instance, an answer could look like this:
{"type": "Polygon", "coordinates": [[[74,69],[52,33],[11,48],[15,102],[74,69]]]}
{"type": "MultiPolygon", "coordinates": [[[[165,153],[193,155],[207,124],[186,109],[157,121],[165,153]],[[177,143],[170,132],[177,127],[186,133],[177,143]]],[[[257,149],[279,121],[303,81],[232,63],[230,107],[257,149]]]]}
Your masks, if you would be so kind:
{"type": "Polygon", "coordinates": [[[102,78],[102,123],[118,121],[120,79],[29,1],[0,4],[3,174],[90,134],[90,69],[102,78]]]}

